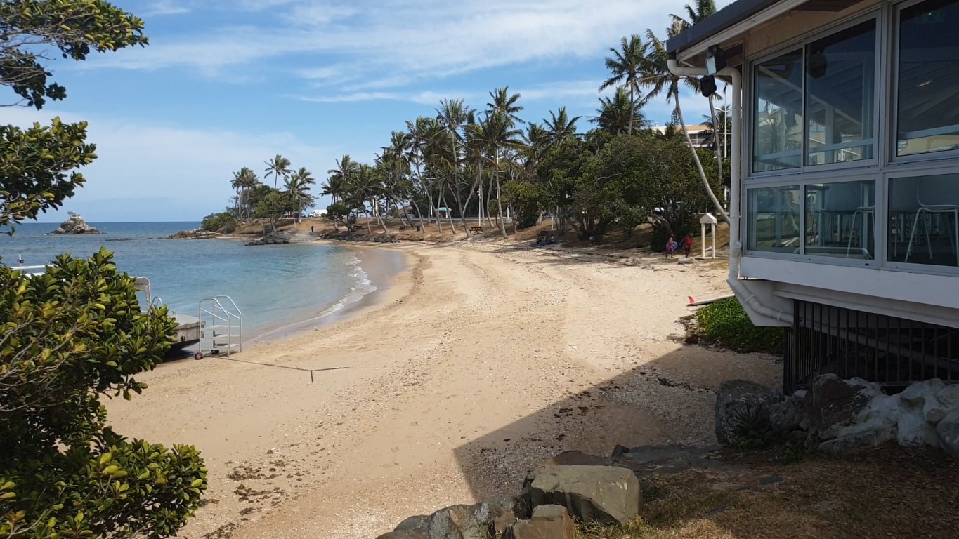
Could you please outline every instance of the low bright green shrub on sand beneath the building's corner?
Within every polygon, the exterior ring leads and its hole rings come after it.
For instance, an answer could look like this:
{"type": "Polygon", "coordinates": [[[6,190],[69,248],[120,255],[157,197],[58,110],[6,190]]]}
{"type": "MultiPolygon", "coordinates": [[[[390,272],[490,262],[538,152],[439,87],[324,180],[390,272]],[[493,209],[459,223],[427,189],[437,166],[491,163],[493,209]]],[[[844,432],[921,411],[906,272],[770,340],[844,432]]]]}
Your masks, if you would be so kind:
{"type": "Polygon", "coordinates": [[[711,303],[696,312],[699,333],[715,345],[740,352],[782,353],[781,327],[753,326],[736,298],[711,303]]]}

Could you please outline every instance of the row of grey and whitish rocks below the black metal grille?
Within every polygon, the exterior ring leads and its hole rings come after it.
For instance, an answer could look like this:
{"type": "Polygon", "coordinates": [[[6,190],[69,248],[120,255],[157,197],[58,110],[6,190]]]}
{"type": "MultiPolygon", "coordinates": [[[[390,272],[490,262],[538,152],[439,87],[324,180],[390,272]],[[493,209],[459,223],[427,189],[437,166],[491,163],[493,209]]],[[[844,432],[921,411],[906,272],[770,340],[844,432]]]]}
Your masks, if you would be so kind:
{"type": "Polygon", "coordinates": [[[785,398],[752,382],[723,383],[716,396],[716,439],[735,442],[737,425],[744,418],[830,453],[896,440],[904,446],[938,447],[959,457],[959,386],[938,378],[890,395],[862,378],[823,374],[808,390],[785,398]]]}

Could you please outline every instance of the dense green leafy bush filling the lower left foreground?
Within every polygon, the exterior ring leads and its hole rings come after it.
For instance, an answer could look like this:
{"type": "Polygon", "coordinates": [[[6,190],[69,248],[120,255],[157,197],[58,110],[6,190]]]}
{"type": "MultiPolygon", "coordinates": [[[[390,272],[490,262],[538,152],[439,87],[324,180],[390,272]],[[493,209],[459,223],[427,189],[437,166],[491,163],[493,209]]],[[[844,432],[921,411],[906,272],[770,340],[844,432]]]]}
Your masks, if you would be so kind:
{"type": "Polygon", "coordinates": [[[123,438],[100,402],[146,389],[135,376],[174,336],[106,251],[34,277],[0,266],[0,536],[166,537],[193,514],[197,450],[123,438]]]}

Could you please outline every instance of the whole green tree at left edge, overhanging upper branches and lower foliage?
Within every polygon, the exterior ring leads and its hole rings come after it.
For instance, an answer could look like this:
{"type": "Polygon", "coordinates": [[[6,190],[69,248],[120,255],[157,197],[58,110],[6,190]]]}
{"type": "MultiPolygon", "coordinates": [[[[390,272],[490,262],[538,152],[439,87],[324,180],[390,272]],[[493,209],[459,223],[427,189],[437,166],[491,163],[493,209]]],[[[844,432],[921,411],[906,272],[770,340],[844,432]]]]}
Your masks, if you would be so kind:
{"type": "MultiPolygon", "coordinates": [[[[0,85],[39,109],[66,90],[53,52],[145,45],[143,21],[100,0],[0,2],[0,85]]],[[[86,124],[0,127],[0,226],[56,209],[83,184],[86,124]]],[[[11,230],[12,232],[12,230],[11,230]]],[[[131,398],[135,376],[170,348],[166,307],[141,311],[105,251],[58,257],[44,275],[0,265],[0,536],[167,537],[197,509],[206,469],[193,447],[128,440],[101,400],[131,398]]]]}

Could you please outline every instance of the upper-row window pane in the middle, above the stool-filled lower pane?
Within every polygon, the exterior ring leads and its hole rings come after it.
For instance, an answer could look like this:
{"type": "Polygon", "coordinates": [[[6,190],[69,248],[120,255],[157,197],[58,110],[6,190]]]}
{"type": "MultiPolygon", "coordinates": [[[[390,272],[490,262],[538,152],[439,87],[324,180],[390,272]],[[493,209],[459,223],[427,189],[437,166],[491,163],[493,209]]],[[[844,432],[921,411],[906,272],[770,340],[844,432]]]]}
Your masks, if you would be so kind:
{"type": "Polygon", "coordinates": [[[875,19],[807,45],[807,166],[873,157],[875,72],[875,19]]]}

